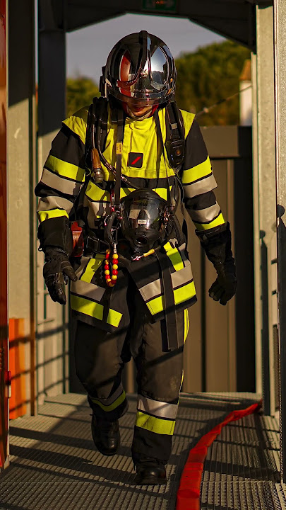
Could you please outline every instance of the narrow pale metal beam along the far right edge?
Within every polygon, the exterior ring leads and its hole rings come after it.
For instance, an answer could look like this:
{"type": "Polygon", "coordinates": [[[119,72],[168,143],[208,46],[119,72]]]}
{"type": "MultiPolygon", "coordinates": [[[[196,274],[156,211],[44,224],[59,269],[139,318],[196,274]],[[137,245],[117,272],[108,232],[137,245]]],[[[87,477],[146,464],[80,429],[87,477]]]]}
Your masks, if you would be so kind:
{"type": "Polygon", "coordinates": [[[274,0],[275,137],[278,203],[278,334],[280,341],[280,463],[286,459],[286,3],[274,0]]]}

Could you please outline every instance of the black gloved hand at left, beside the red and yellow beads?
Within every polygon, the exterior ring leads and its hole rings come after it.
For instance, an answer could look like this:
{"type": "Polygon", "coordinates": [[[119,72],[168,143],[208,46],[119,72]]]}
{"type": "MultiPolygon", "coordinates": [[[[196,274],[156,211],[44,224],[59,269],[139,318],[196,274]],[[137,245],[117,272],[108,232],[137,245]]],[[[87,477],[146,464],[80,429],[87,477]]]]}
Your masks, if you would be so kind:
{"type": "Polygon", "coordinates": [[[68,254],[60,248],[47,248],[44,261],[43,275],[49,295],[53,301],[65,305],[64,275],[72,281],[78,279],[68,259],[68,254]]]}

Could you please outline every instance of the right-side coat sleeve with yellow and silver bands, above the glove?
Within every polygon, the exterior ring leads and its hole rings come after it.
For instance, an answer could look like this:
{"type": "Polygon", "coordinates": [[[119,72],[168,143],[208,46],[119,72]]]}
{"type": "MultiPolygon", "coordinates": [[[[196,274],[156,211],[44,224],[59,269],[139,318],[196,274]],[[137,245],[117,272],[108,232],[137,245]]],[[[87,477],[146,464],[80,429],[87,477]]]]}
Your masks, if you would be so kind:
{"type": "Polygon", "coordinates": [[[208,151],[196,120],[186,136],[184,166],[181,174],[184,205],[198,232],[213,232],[225,227],[225,220],[213,190],[218,186],[213,176],[208,151]]]}

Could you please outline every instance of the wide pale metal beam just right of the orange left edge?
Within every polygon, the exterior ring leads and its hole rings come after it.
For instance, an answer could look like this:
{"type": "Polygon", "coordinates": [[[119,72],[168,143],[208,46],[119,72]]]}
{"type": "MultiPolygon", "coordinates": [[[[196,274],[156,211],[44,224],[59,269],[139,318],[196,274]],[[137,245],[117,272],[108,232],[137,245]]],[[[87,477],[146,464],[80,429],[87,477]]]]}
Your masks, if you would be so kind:
{"type": "Polygon", "coordinates": [[[9,317],[25,319],[28,413],[34,412],[35,399],[34,6],[33,0],[8,2],[8,312],[9,317]]]}

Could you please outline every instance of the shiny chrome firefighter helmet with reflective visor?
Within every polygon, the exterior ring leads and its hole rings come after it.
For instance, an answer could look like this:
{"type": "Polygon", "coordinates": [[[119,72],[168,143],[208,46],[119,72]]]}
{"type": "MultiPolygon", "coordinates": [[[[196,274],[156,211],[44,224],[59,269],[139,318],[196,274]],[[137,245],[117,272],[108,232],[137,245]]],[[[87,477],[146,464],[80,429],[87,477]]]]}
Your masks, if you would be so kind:
{"type": "Polygon", "coordinates": [[[112,48],[102,67],[100,91],[133,106],[160,105],[172,100],[176,77],[165,42],[142,30],[126,35],[112,48]]]}

